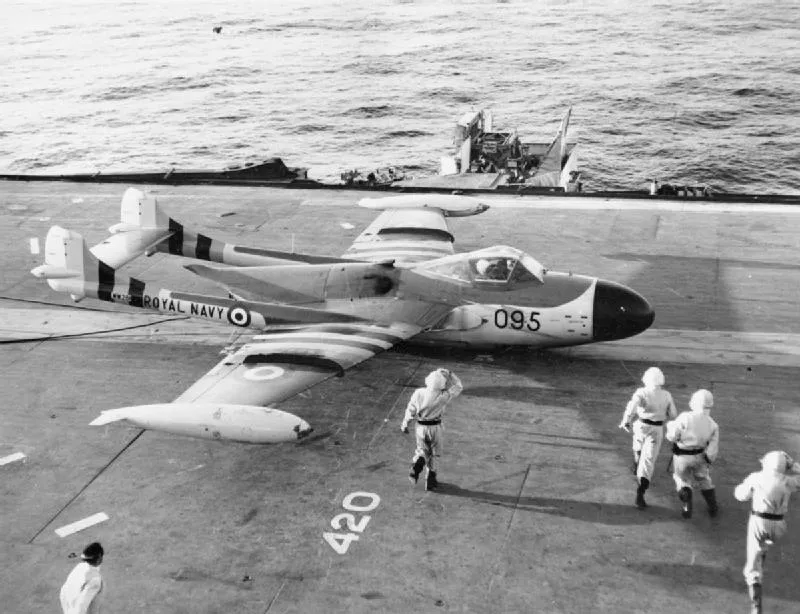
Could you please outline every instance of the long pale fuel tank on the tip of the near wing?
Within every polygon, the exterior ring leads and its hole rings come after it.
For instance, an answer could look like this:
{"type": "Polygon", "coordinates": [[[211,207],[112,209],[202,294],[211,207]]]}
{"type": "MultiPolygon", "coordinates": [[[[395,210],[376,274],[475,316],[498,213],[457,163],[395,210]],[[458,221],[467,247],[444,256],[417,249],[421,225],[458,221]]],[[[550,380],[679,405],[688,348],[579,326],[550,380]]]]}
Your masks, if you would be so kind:
{"type": "Polygon", "coordinates": [[[125,420],[135,426],[200,439],[245,443],[285,443],[303,439],[313,430],[285,411],[224,403],[158,403],[109,409],[91,426],[125,420]]]}

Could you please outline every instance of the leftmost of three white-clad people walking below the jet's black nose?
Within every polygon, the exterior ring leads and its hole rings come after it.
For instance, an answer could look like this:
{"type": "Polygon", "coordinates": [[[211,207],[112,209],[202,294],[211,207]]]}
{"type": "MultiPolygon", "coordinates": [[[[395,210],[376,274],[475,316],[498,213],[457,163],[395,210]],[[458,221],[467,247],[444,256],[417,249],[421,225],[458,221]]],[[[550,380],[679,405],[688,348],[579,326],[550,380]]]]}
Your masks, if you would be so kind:
{"type": "Polygon", "coordinates": [[[619,427],[631,432],[633,425],[633,471],[636,473],[636,507],[644,509],[644,493],[653,479],[656,458],[664,439],[664,421],[678,415],[672,395],[664,390],[664,374],[650,367],[642,376],[642,388],[637,388],[625,407],[619,427]]]}

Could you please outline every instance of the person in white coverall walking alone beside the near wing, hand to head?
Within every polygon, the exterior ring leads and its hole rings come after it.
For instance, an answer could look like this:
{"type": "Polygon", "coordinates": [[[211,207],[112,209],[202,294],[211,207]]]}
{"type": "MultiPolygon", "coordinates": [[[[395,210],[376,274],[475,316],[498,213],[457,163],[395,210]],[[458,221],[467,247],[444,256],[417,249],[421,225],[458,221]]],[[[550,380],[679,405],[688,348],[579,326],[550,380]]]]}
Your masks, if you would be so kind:
{"type": "Polygon", "coordinates": [[[433,490],[438,485],[435,459],[442,452],[442,417],[447,404],[461,394],[463,389],[457,375],[447,369],[436,369],[425,378],[425,388],[414,391],[406,407],[400,430],[408,433],[408,423],[417,421],[417,448],[411,461],[409,479],[416,484],[419,474],[427,464],[425,490],[433,490]]]}

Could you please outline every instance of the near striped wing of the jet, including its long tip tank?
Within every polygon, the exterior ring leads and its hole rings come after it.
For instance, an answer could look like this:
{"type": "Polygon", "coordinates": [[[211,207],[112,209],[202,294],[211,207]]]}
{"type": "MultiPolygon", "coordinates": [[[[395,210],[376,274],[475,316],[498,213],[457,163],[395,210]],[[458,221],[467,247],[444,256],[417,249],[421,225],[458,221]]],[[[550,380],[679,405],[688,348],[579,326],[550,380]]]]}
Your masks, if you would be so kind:
{"type": "Polygon", "coordinates": [[[422,326],[315,324],[254,337],[220,361],[172,403],[105,410],[91,422],[127,421],[145,429],[202,439],[281,443],[306,437],[309,424],[267,408],[344,371],[422,326]]]}

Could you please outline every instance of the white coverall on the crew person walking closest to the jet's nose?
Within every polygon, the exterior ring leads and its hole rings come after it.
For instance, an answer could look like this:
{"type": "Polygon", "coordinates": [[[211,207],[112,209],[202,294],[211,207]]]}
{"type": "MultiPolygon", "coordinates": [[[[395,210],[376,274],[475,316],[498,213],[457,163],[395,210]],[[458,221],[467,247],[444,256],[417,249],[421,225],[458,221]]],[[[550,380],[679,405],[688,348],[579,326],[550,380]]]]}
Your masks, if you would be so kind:
{"type": "Polygon", "coordinates": [[[638,459],[637,479],[652,480],[664,440],[664,421],[673,420],[677,415],[672,395],[661,386],[644,386],[633,393],[620,426],[628,430],[633,422],[633,454],[638,459]],[[650,424],[653,422],[661,424],[650,424]]]}

